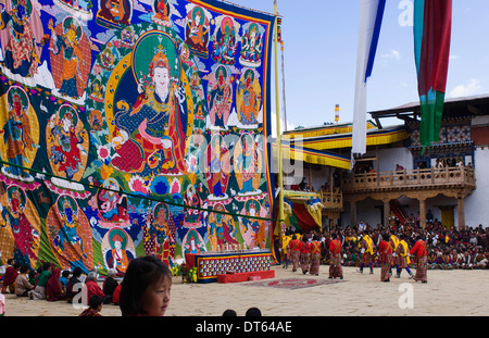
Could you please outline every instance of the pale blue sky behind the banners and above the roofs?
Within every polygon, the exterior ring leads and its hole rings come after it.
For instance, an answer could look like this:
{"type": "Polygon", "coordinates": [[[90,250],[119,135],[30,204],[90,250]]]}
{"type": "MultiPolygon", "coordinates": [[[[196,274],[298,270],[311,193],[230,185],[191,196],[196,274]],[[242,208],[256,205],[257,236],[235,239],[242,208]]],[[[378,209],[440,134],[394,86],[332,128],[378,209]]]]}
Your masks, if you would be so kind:
{"type": "MultiPolygon", "coordinates": [[[[230,2],[267,13],[274,11],[273,0],[230,2]]],[[[278,0],[277,3],[278,13],[284,16],[288,129],[334,122],[337,103],[340,123],[352,122],[360,1],[278,0]]],[[[413,0],[387,0],[368,83],[368,111],[418,100],[410,23],[412,3],[413,0]]],[[[488,18],[489,1],[453,0],[447,98],[489,92],[488,18]]],[[[386,124],[402,122],[390,120],[386,124]]]]}

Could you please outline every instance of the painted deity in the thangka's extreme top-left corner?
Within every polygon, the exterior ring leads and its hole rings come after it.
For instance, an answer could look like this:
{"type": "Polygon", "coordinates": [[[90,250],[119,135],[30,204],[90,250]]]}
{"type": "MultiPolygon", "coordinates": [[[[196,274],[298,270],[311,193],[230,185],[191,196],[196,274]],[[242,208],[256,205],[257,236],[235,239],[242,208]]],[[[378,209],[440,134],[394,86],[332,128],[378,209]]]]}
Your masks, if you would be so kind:
{"type": "Polygon", "coordinates": [[[45,45],[42,26],[30,0],[9,2],[10,11],[0,3],[0,30],[4,29],[9,35],[8,39],[4,34],[0,36],[4,64],[12,74],[30,77],[37,73],[37,66],[41,63],[40,53],[45,45]],[[39,25],[33,29],[36,21],[39,21],[39,25]]]}

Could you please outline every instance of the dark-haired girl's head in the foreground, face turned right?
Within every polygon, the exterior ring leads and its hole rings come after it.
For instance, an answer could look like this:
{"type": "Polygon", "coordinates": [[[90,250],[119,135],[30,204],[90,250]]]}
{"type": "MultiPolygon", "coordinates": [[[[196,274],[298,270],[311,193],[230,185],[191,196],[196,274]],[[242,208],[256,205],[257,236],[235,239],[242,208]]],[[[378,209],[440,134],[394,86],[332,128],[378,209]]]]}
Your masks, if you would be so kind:
{"type": "Polygon", "coordinates": [[[129,263],[121,287],[123,316],[162,316],[168,308],[172,272],[154,255],[129,263]]]}

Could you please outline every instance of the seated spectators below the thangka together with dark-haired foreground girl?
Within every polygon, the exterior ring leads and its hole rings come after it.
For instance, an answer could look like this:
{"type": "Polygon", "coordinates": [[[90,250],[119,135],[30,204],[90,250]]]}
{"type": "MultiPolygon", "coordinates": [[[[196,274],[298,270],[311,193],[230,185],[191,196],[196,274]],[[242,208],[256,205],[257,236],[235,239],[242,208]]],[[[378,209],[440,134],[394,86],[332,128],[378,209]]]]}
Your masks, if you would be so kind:
{"type": "Polygon", "coordinates": [[[133,260],[121,283],[116,279],[116,272],[109,270],[102,286],[95,270],[88,274],[79,267],[61,271],[45,262],[33,271],[9,259],[0,295],[10,292],[32,300],[88,305],[80,316],[101,316],[103,304],[118,305],[124,316],[161,316],[170,303],[171,286],[170,267],[153,255],[133,260]]]}

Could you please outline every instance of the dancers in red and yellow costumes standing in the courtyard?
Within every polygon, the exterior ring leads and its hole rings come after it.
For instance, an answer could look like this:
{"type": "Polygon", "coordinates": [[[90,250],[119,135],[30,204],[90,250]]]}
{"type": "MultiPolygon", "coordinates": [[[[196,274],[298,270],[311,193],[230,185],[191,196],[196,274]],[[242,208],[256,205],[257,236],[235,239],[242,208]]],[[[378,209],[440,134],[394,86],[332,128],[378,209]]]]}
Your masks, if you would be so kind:
{"type": "Polygon", "coordinates": [[[377,262],[380,272],[380,280],[390,281],[392,270],[396,268],[396,277],[400,278],[402,270],[405,270],[410,278],[427,283],[427,245],[423,235],[417,235],[413,246],[408,243],[404,234],[399,237],[391,230],[384,231],[379,238],[371,236],[369,229],[362,230],[360,236],[346,237],[343,230],[324,231],[321,234],[284,234],[281,238],[280,259],[284,268],[292,264],[292,272],[301,268],[303,274],[319,274],[322,263],[329,265],[328,278],[343,279],[343,265],[359,267],[363,273],[365,266],[374,272],[374,262],[377,262]],[[377,243],[377,245],[376,245],[377,243]],[[354,259],[349,259],[349,253],[354,259]],[[416,274],[411,272],[412,263],[416,265],[416,274]]]}

